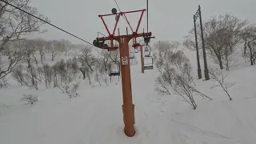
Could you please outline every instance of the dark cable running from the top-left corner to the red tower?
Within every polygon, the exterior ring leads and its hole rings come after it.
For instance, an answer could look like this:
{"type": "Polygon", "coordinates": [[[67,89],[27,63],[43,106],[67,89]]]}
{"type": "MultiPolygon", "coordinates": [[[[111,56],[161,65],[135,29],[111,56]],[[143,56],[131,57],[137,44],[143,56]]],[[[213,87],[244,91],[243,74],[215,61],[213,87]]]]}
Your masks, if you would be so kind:
{"type": "MultiPolygon", "coordinates": [[[[21,10],[22,12],[24,12],[24,13],[26,13],[26,14],[29,14],[30,16],[32,16],[32,17],[34,17],[34,18],[38,18],[37,16],[35,16],[35,15],[33,15],[33,14],[30,14],[30,13],[26,12],[25,10],[22,10],[22,9],[18,8],[17,6],[14,6],[14,5],[10,4],[9,2],[3,1],[3,0],[0,0],[0,1],[5,2],[7,5],[13,6],[14,8],[16,8],[16,9],[18,9],[18,10],[21,10]]],[[[38,19],[39,19],[40,21],[42,21],[42,22],[46,22],[46,21],[43,20],[42,18],[38,18],[38,19]]],[[[54,26],[54,25],[51,24],[50,22],[46,22],[46,23],[47,23],[48,25],[50,25],[50,26],[54,26]]],[[[84,40],[84,39],[82,39],[82,38],[79,38],[78,36],[75,36],[74,34],[71,34],[71,33],[67,32],[66,30],[63,30],[63,29],[59,28],[58,26],[54,26],[54,27],[57,28],[58,30],[64,31],[66,34],[72,35],[74,38],[80,39],[82,42],[86,42],[86,43],[90,44],[91,46],[94,46],[94,45],[91,44],[90,42],[87,42],[86,40],[84,40]]]]}

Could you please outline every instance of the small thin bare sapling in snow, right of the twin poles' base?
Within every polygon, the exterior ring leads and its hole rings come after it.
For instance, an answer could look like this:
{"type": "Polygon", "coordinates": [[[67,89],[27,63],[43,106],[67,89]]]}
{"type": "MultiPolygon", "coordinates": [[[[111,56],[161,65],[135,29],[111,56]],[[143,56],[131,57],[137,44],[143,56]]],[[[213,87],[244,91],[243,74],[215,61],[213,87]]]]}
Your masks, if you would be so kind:
{"type": "Polygon", "coordinates": [[[213,80],[215,80],[216,82],[218,82],[218,84],[214,84],[214,86],[211,86],[211,89],[214,89],[215,87],[221,87],[225,93],[227,94],[227,96],[230,98],[230,101],[232,100],[232,98],[230,97],[230,94],[228,93],[228,89],[232,86],[234,86],[234,82],[229,83],[226,82],[226,74],[222,73],[222,70],[218,70],[218,69],[214,69],[214,68],[210,68],[209,73],[211,74],[213,80]]]}

